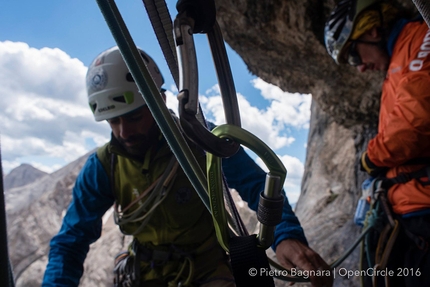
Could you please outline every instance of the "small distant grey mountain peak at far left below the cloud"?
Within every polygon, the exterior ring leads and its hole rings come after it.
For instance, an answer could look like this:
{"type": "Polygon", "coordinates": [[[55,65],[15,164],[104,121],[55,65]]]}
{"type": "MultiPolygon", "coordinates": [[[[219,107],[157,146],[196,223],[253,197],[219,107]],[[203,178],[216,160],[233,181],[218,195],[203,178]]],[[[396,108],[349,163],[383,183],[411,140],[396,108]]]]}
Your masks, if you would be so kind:
{"type": "Polygon", "coordinates": [[[12,169],[4,177],[4,188],[11,189],[14,187],[24,186],[47,174],[48,173],[41,171],[30,164],[23,163],[20,166],[12,169]]]}

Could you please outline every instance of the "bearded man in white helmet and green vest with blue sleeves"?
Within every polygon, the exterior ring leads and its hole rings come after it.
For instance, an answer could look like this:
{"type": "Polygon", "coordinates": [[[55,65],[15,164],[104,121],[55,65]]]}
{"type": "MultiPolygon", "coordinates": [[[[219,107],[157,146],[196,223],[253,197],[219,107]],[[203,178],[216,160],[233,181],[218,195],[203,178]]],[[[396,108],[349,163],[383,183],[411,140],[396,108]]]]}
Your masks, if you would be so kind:
{"type": "MultiPolygon", "coordinates": [[[[143,51],[141,55],[164,96],[157,65],[143,51]]],[[[115,260],[116,286],[235,286],[212,216],[170,150],[118,48],[90,65],[87,90],[96,121],[106,120],[112,137],[90,155],[76,180],[62,227],[50,243],[42,286],[78,286],[89,245],[100,237],[102,216],[112,205],[121,232],[133,236],[128,251],[115,260]]],[[[204,151],[189,145],[204,167],[204,151]]],[[[266,173],[243,148],[223,159],[222,167],[229,187],[257,210],[266,173]]],[[[273,248],[286,267],[329,269],[307,246],[286,198],[273,248]]],[[[331,286],[332,277],[313,276],[311,282],[331,286]]]]}

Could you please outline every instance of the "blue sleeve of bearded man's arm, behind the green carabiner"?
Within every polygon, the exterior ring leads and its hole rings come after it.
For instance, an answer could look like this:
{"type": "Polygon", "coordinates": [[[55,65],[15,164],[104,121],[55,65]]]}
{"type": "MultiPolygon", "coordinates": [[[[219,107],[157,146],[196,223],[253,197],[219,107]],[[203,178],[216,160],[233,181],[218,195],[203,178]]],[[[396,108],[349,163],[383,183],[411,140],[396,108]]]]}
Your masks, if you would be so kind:
{"type": "MultiPolygon", "coordinates": [[[[236,189],[248,206],[257,211],[260,193],[264,190],[266,173],[242,147],[234,156],[222,160],[222,168],[229,187],[236,189]]],[[[282,192],[285,198],[282,222],[276,226],[273,250],[276,250],[276,246],[285,239],[298,239],[306,245],[308,244],[303,228],[294,214],[284,190],[282,192]]]]}

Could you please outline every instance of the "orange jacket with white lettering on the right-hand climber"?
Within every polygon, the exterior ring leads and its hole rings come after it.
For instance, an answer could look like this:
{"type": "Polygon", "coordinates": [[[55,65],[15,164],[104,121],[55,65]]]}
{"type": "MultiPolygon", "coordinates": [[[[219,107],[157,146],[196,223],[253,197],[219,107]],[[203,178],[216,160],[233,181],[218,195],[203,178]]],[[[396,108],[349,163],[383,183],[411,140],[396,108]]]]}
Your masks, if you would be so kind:
{"type": "MultiPolygon", "coordinates": [[[[375,165],[389,167],[389,178],[423,167],[403,165],[408,160],[430,157],[430,31],[424,21],[407,23],[394,44],[382,86],[378,134],[367,153],[375,165]]],[[[430,186],[416,180],[396,184],[388,198],[397,214],[427,209],[430,186]]]]}

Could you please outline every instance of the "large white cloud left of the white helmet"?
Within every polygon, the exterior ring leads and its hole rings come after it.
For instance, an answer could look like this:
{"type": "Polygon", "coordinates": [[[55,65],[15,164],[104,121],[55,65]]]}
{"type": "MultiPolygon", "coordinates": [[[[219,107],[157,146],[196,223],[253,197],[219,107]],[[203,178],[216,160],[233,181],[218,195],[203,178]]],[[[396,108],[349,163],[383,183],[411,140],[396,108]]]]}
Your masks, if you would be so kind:
{"type": "Polygon", "coordinates": [[[86,139],[106,142],[107,125],[88,108],[86,67],[59,49],[0,42],[1,150],[5,173],[28,160],[44,171],[89,151],[86,139]]]}

